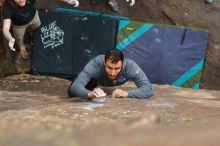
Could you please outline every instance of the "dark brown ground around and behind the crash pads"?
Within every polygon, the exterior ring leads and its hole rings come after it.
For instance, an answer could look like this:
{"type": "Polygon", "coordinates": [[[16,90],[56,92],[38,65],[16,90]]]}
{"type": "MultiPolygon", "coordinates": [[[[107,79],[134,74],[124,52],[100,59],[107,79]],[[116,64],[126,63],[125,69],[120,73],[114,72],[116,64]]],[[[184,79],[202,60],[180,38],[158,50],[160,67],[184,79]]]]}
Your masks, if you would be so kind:
{"type": "MultiPolygon", "coordinates": [[[[209,40],[201,87],[205,89],[220,89],[219,1],[205,4],[203,0],[137,0],[133,7],[130,7],[124,0],[120,0],[118,3],[120,7],[118,15],[128,16],[134,20],[207,29],[209,31],[209,40]]],[[[38,0],[37,7],[49,10],[57,7],[73,8],[73,6],[58,0],[38,0]]],[[[79,9],[112,13],[105,0],[100,1],[96,6],[91,5],[89,0],[80,1],[79,9]]],[[[116,13],[113,14],[116,15],[116,13]]],[[[19,57],[15,57],[16,54],[7,51],[7,42],[3,42],[2,39],[3,37],[1,36],[1,76],[28,72],[29,64],[22,63],[19,57]]]]}

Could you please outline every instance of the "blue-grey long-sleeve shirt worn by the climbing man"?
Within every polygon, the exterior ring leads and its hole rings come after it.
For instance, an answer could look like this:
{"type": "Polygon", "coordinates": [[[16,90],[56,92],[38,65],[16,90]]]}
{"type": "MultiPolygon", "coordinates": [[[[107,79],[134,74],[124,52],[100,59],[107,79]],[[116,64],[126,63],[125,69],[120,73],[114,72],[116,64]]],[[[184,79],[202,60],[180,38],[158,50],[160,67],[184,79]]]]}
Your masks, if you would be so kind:
{"type": "Polygon", "coordinates": [[[126,81],[133,81],[137,89],[127,90],[130,98],[148,98],[153,95],[152,85],[143,70],[131,59],[125,58],[122,69],[115,80],[110,80],[105,72],[104,55],[92,59],[80,72],[78,77],[69,87],[69,96],[88,98],[90,90],[86,85],[91,79],[95,79],[101,86],[119,86],[126,81]]]}

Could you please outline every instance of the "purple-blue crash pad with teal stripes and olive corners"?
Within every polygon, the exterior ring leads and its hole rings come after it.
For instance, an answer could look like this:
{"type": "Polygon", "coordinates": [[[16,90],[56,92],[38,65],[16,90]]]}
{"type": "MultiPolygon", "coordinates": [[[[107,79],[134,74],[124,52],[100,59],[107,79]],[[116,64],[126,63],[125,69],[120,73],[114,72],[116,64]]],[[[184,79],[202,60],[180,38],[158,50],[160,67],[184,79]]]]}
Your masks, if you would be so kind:
{"type": "Polygon", "coordinates": [[[120,20],[116,48],[136,61],[151,83],[198,89],[208,32],[120,20]]]}

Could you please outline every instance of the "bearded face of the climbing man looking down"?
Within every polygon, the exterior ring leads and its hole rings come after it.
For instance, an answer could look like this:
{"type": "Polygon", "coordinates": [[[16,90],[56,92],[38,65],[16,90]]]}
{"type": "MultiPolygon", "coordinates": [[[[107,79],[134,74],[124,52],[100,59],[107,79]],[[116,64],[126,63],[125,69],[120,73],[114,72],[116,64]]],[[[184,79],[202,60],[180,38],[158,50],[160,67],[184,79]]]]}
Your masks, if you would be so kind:
{"type": "Polygon", "coordinates": [[[118,61],[116,63],[112,63],[112,60],[107,59],[107,61],[104,63],[105,65],[105,71],[110,80],[114,80],[122,68],[122,61],[118,61]]]}

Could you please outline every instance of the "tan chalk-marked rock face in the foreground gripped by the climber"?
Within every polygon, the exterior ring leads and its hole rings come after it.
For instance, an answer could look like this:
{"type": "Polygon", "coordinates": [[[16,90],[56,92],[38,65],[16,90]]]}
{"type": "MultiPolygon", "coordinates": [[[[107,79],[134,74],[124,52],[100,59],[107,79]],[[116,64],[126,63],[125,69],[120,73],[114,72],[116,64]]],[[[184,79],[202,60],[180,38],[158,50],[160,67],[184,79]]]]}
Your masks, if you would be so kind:
{"type": "Polygon", "coordinates": [[[1,79],[0,145],[219,145],[220,91],[154,85],[149,99],[88,102],[68,98],[69,84],[44,76],[1,79]]]}

